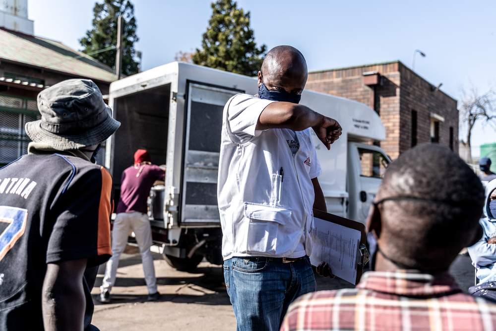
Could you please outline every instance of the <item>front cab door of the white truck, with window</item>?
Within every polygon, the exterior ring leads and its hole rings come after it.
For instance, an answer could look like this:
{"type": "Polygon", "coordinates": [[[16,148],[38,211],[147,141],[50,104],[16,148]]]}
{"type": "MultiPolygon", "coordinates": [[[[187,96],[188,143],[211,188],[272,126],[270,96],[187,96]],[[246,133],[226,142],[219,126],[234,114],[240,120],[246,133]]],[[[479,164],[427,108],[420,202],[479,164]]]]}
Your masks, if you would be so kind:
{"type": "Polygon", "coordinates": [[[373,145],[350,143],[348,153],[350,217],[365,223],[390,160],[382,149],[373,145]]]}

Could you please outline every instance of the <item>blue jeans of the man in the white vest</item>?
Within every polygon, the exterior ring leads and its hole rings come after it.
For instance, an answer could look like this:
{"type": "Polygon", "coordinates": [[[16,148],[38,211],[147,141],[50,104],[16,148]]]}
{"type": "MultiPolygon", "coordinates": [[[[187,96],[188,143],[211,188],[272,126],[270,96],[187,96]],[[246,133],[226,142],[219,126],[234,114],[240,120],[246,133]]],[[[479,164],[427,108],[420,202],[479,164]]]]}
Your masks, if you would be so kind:
{"type": "Polygon", "coordinates": [[[264,257],[224,261],[224,279],[238,331],[278,331],[288,306],[316,289],[310,259],[291,263],[264,257]]]}

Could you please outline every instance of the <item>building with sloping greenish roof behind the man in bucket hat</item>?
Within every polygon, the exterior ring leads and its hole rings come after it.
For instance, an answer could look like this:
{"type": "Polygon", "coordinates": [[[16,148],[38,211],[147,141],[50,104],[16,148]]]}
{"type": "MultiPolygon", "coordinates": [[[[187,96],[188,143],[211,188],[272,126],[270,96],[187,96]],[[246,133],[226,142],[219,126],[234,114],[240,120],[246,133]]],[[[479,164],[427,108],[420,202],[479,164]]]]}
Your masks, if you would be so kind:
{"type": "Polygon", "coordinates": [[[61,42],[33,35],[27,1],[0,5],[0,166],[26,153],[24,124],[40,117],[36,96],[69,78],[89,78],[103,94],[116,80],[112,68],[61,42]]]}

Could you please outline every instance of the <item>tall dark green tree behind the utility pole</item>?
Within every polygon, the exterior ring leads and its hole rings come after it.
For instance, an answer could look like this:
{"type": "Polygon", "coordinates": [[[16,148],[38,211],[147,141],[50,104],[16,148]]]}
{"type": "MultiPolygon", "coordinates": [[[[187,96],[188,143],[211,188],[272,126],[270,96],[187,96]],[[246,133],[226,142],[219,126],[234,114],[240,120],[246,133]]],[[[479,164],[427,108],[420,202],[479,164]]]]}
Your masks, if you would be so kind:
{"type": "MultiPolygon", "coordinates": [[[[104,0],[103,3],[95,3],[93,8],[93,28],[86,31],[86,36],[79,40],[83,47],[83,53],[92,53],[110,46],[117,45],[117,18],[123,16],[123,64],[122,73],[131,75],[138,72],[138,63],[134,60],[134,43],[138,41],[136,36],[136,19],[134,18],[134,6],[129,0],[104,0]]],[[[116,50],[110,50],[92,55],[101,63],[115,67],[116,50]]]]}

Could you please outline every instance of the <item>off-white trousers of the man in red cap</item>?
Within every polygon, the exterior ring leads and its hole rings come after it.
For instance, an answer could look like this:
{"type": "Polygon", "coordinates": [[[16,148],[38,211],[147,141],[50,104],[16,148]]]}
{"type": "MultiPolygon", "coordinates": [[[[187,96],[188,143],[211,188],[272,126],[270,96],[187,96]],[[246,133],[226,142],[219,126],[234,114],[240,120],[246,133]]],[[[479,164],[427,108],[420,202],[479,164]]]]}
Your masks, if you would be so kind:
{"type": "Polygon", "coordinates": [[[101,291],[110,291],[116,282],[119,258],[124,252],[127,245],[127,236],[131,230],[134,232],[138,242],[148,293],[157,292],[157,278],[155,277],[155,267],[153,266],[153,257],[150,252],[150,246],[152,245],[150,222],[146,214],[137,211],[117,214],[114,228],[112,229],[112,258],[107,262],[105,277],[100,287],[101,291]]]}

